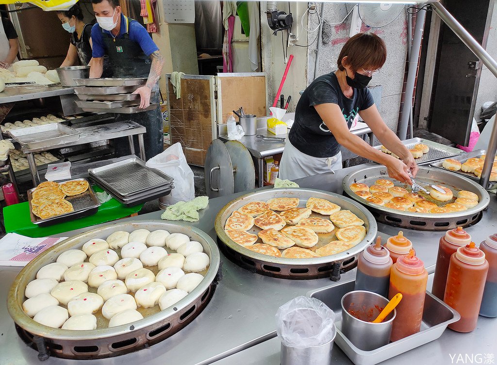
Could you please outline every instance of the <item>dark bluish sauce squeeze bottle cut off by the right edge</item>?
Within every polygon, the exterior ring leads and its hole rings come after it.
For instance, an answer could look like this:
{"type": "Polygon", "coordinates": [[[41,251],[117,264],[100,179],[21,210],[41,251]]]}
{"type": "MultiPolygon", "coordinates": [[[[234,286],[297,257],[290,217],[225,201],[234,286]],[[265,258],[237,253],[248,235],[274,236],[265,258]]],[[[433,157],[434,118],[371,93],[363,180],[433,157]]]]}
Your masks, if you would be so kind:
{"type": "Polygon", "coordinates": [[[497,317],[497,233],[489,236],[480,244],[480,250],[489,262],[489,273],[483,290],[480,315],[484,317],[497,317]]]}

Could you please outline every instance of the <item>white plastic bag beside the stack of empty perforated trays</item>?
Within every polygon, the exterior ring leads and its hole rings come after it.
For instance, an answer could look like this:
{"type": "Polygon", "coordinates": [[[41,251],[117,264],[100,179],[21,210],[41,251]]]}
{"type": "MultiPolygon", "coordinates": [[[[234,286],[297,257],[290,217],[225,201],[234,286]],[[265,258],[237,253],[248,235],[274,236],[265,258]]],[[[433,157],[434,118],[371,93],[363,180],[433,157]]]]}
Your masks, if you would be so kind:
{"type": "Polygon", "coordinates": [[[162,204],[172,205],[181,200],[190,201],[195,197],[193,171],[186,163],[186,157],[179,142],[151,158],[145,166],[160,170],[174,179],[174,188],[169,195],[161,198],[162,204]]]}

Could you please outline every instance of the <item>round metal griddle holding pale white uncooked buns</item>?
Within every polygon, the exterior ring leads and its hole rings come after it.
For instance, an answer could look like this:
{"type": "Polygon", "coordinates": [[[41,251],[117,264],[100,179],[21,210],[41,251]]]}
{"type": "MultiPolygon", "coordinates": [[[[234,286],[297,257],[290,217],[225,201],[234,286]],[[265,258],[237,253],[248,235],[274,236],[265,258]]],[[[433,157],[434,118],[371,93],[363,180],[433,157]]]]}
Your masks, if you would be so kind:
{"type": "Polygon", "coordinates": [[[15,322],[17,333],[28,346],[39,352],[40,360],[45,360],[49,354],[64,359],[108,358],[147,348],[165,340],[192,322],[214,294],[219,267],[220,254],[216,243],[198,228],[153,220],[114,223],[70,237],[26,265],[9,290],[7,309],[15,322]],[[41,267],[55,262],[62,252],[81,249],[85,242],[93,238],[105,239],[115,231],[131,232],[140,228],[184,233],[191,240],[200,242],[210,258],[211,263],[202,282],[174,306],[130,324],[92,331],[62,330],[44,326],[24,313],[24,290],[41,267]]]}

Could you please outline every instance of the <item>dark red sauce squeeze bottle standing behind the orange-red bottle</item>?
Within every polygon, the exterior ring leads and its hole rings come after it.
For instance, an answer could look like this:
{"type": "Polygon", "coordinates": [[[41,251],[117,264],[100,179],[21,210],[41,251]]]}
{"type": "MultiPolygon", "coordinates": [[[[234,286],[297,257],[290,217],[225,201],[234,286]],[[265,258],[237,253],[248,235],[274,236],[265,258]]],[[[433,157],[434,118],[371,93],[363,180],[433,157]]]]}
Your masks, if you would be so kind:
{"type": "Polygon", "coordinates": [[[431,287],[431,293],[438,299],[443,300],[445,294],[450,257],[459,247],[469,245],[470,242],[471,236],[462,227],[451,229],[445,233],[444,237],[440,238],[433,286],[431,287]]]}

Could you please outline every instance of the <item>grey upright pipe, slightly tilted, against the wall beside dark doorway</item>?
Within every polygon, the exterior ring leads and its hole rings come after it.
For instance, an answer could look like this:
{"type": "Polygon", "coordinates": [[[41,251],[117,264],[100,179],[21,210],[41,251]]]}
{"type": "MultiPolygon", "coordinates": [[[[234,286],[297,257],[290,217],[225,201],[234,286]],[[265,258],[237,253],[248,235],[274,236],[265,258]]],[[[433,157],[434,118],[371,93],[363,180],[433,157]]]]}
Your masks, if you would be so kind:
{"type": "Polygon", "coordinates": [[[414,40],[411,49],[411,57],[409,58],[409,71],[406,84],[406,93],[404,98],[404,106],[402,107],[401,125],[399,128],[399,138],[405,140],[409,126],[409,115],[413,110],[413,93],[414,81],[416,80],[417,62],[419,60],[419,51],[421,48],[421,39],[424,28],[424,18],[426,10],[422,9],[416,13],[416,23],[414,27],[414,40]]]}

